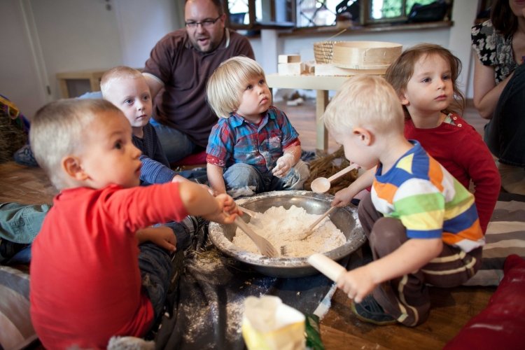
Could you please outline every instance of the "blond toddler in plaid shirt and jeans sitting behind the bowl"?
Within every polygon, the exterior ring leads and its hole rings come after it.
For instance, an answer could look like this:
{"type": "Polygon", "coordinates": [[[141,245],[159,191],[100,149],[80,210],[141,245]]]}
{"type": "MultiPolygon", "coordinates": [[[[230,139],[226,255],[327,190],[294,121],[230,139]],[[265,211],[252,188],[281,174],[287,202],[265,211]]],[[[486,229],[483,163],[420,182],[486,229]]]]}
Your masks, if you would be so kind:
{"type": "Polygon", "coordinates": [[[219,117],[211,130],[207,174],[215,193],[232,197],[271,190],[299,190],[309,169],[300,160],[299,134],[272,94],[261,66],[248,57],[223,62],[207,83],[207,98],[219,117]]]}

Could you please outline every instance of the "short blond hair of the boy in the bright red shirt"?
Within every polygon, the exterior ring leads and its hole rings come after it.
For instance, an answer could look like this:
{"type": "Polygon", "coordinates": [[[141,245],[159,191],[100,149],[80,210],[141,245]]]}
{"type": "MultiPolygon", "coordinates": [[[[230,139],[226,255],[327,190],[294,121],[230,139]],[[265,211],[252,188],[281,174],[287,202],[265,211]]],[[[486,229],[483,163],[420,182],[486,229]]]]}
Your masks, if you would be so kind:
{"type": "Polygon", "coordinates": [[[57,189],[66,186],[62,158],[88,146],[83,145],[83,134],[89,132],[99,113],[106,111],[122,113],[105,99],[59,99],[36,111],[29,130],[31,149],[57,189]]]}

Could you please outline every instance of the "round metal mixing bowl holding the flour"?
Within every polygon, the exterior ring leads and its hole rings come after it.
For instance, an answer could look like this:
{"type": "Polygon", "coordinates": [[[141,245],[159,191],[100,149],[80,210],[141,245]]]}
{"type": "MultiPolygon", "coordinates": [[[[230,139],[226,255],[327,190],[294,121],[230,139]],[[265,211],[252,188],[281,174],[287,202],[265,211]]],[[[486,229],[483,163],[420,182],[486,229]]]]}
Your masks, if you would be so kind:
{"type": "MultiPolygon", "coordinates": [[[[292,205],[304,208],[309,214],[323,214],[330,209],[330,202],[333,196],[310,191],[274,191],[245,197],[236,200],[237,204],[260,213],[265,212],[270,207],[283,206],[290,209],[292,205]]],[[[247,215],[243,216],[249,222],[247,215]]],[[[355,206],[339,208],[330,214],[330,220],[346,236],[346,243],[339,248],[324,253],[332,260],[341,260],[350,253],[356,251],[366,241],[363,228],[357,218],[357,208],[355,206]]],[[[279,258],[269,258],[259,254],[241,250],[232,243],[235,236],[237,225],[221,225],[210,223],[209,235],[214,245],[226,255],[230,255],[241,262],[251,265],[253,269],[274,277],[301,277],[310,276],[318,271],[309,265],[307,257],[295,258],[281,256],[279,258]]]]}

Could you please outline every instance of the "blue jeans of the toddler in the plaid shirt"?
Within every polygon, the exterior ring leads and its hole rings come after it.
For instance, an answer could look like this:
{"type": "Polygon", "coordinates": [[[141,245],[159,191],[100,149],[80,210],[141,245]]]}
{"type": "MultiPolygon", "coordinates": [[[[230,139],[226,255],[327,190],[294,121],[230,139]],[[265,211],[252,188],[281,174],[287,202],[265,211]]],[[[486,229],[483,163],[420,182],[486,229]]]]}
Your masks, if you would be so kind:
{"type": "Polygon", "coordinates": [[[275,190],[302,190],[309,175],[308,165],[302,160],[283,178],[274,176],[272,172],[262,174],[252,165],[237,163],[226,169],[224,182],[228,194],[238,198],[275,190]]]}

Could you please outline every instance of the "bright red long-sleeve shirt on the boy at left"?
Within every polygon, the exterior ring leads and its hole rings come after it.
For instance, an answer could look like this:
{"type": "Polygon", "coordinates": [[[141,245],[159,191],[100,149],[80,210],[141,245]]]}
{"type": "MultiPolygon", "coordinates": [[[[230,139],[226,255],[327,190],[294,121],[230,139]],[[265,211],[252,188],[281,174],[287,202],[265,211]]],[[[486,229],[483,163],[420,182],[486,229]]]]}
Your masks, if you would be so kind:
{"type": "Polygon", "coordinates": [[[45,348],[105,349],[112,335],[143,336],[153,307],[135,232],[186,215],[178,183],[59,193],[31,248],[31,320],[45,348]]]}

